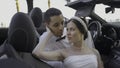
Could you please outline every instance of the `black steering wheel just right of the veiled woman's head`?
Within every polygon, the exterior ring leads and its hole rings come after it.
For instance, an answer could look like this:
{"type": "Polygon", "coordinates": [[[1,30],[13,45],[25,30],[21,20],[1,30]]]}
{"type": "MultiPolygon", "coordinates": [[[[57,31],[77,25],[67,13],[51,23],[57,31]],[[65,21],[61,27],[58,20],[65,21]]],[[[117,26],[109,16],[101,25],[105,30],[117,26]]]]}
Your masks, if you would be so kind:
{"type": "Polygon", "coordinates": [[[101,36],[101,23],[99,21],[92,21],[88,25],[88,30],[91,32],[93,41],[95,42],[101,36]]]}

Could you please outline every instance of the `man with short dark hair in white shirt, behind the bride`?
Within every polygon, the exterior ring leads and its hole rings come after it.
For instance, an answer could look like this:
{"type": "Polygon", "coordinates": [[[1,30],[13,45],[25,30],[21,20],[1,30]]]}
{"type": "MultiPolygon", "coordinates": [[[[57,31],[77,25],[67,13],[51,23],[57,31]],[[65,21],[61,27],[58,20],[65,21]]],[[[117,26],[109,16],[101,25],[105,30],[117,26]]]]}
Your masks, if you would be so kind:
{"type": "MultiPolygon", "coordinates": [[[[69,47],[68,42],[63,35],[65,35],[64,28],[64,17],[62,12],[56,8],[49,8],[44,14],[44,23],[46,25],[47,31],[40,36],[40,41],[33,50],[33,54],[39,55],[39,46],[42,44],[43,39],[47,39],[48,32],[52,33],[51,38],[46,43],[45,50],[53,51],[62,48],[69,47]],[[64,39],[62,40],[61,37],[64,39]]],[[[39,58],[39,57],[38,57],[39,58]]],[[[54,68],[63,68],[63,63],[60,61],[45,61],[54,68]]]]}

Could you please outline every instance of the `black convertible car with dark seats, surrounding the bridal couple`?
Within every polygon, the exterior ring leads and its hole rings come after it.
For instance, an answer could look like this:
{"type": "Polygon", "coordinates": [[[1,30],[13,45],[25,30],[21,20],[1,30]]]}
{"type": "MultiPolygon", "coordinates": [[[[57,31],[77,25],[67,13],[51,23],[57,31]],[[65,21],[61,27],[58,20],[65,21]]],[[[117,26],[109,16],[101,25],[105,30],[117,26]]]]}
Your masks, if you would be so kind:
{"type": "MultiPolygon", "coordinates": [[[[96,5],[103,4],[108,6],[103,10],[106,14],[114,14],[115,9],[120,8],[120,0],[66,1],[65,6],[76,10],[75,15],[86,21],[104,67],[120,68],[120,22],[106,21],[95,12],[96,5]]],[[[44,13],[40,8],[33,8],[33,0],[26,2],[29,17],[18,13],[9,28],[0,28],[0,68],[53,68],[31,54],[38,36],[46,29],[42,23],[44,13]]]]}

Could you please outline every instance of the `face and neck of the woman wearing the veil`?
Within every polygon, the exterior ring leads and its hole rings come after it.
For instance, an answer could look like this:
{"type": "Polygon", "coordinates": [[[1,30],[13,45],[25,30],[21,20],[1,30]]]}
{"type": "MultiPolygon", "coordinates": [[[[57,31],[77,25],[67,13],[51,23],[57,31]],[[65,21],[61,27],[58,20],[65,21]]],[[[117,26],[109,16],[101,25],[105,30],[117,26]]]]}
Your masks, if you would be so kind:
{"type": "Polygon", "coordinates": [[[67,24],[67,38],[70,43],[82,41],[82,35],[83,34],[72,21],[67,24]]]}

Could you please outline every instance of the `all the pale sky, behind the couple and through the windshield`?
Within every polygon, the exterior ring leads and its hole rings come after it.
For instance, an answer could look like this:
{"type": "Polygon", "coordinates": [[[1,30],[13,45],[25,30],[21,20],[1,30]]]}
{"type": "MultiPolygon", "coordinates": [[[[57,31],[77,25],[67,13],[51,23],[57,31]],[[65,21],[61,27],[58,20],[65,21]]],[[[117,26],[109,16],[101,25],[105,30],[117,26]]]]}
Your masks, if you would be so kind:
{"type": "MultiPolygon", "coordinates": [[[[26,0],[18,0],[20,12],[27,13],[27,3],[26,0]]],[[[74,16],[74,9],[65,6],[67,2],[65,0],[50,0],[51,6],[58,8],[62,11],[63,15],[67,18],[74,16]]],[[[48,0],[33,0],[33,7],[39,7],[43,12],[48,9],[48,0]]],[[[105,14],[104,5],[97,5],[95,12],[99,14],[102,18],[106,20],[115,20],[120,19],[120,10],[116,10],[115,14],[105,14]]],[[[16,1],[15,0],[1,0],[0,2],[0,27],[9,27],[9,23],[12,19],[12,16],[17,12],[16,10],[16,1]],[[3,24],[1,24],[3,23],[3,24]]]]}

